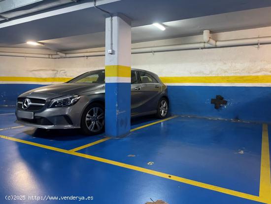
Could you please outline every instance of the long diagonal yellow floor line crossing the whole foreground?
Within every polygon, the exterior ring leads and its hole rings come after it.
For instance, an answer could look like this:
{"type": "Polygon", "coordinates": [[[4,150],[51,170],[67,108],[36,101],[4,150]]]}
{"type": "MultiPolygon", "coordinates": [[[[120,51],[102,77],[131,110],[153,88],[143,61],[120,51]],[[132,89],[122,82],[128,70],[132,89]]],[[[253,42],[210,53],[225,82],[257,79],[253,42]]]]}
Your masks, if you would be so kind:
{"type": "Polygon", "coordinates": [[[236,196],[236,197],[240,197],[240,198],[244,198],[244,199],[248,199],[248,200],[253,200],[253,201],[257,201],[257,202],[266,202],[266,199],[261,198],[259,196],[254,196],[254,195],[250,195],[250,194],[246,194],[246,193],[242,193],[242,192],[238,192],[238,191],[234,191],[234,190],[230,190],[230,189],[226,189],[226,188],[221,188],[221,187],[218,187],[218,186],[214,186],[214,185],[194,181],[194,180],[191,180],[191,179],[182,178],[182,177],[179,177],[179,176],[170,175],[170,174],[155,171],[155,170],[150,170],[150,169],[147,169],[147,168],[142,168],[142,167],[126,164],[126,163],[120,163],[120,162],[116,162],[116,161],[112,161],[112,160],[107,160],[107,159],[103,159],[103,158],[100,158],[100,157],[86,155],[86,154],[82,154],[82,153],[78,153],[78,152],[71,152],[69,150],[64,150],[64,149],[51,147],[51,146],[47,146],[47,145],[42,145],[42,144],[38,144],[38,143],[30,142],[30,141],[25,141],[25,140],[13,138],[13,137],[8,137],[8,136],[4,136],[4,135],[0,135],[0,138],[7,139],[7,140],[12,140],[12,141],[16,141],[16,142],[21,142],[21,143],[25,143],[25,144],[29,144],[29,145],[33,145],[33,146],[36,146],[36,147],[41,147],[41,148],[57,151],[57,152],[62,152],[62,153],[65,153],[65,154],[78,156],[78,157],[82,157],[82,158],[86,158],[86,159],[90,159],[90,160],[94,160],[94,161],[98,161],[98,162],[102,162],[102,163],[108,163],[108,164],[120,166],[120,167],[123,167],[123,168],[133,169],[133,170],[136,170],[136,171],[148,173],[148,174],[159,176],[159,177],[162,177],[162,178],[178,181],[178,182],[189,184],[189,185],[192,185],[192,186],[197,186],[197,187],[200,187],[200,188],[209,189],[209,190],[212,190],[212,191],[216,191],[216,192],[220,192],[220,193],[224,193],[224,194],[228,194],[228,195],[232,195],[232,196],[236,196]]]}

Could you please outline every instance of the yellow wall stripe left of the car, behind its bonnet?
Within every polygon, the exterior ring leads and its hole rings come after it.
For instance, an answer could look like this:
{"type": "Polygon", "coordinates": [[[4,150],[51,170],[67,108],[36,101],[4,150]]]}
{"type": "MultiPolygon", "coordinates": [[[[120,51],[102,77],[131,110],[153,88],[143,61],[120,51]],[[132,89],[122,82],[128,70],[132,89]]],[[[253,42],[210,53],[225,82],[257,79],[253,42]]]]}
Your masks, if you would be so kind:
{"type": "Polygon", "coordinates": [[[0,77],[0,82],[68,82],[72,78],[0,77]]]}

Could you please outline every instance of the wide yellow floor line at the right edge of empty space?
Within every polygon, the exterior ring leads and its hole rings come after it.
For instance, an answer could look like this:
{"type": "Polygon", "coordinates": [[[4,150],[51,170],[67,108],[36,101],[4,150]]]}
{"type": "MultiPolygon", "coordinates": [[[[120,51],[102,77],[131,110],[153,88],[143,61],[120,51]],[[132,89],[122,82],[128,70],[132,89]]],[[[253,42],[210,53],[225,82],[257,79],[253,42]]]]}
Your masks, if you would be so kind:
{"type": "Polygon", "coordinates": [[[262,157],[259,195],[265,200],[266,203],[271,204],[270,155],[267,124],[263,124],[262,135],[262,157]]]}

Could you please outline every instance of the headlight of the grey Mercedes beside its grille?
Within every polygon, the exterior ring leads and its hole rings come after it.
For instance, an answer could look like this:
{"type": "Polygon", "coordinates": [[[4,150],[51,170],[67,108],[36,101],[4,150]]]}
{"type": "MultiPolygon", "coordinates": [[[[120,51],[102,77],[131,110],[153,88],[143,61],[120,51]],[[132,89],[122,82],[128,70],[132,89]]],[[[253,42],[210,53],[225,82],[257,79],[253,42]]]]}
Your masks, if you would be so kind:
{"type": "Polygon", "coordinates": [[[59,98],[54,98],[51,100],[48,108],[58,108],[58,107],[64,107],[64,106],[71,106],[75,104],[81,96],[72,94],[67,96],[61,96],[59,98]]]}

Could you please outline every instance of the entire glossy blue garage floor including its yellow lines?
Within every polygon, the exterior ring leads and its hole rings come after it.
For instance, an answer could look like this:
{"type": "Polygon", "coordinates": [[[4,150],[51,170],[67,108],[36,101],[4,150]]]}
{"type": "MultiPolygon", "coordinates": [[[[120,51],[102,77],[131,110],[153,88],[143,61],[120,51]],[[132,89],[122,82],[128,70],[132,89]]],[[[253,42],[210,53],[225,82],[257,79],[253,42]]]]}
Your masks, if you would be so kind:
{"type": "Polygon", "coordinates": [[[13,112],[0,109],[1,204],[37,203],[31,196],[58,197],[50,204],[271,204],[266,124],[149,117],[108,139],[16,127],[13,112]]]}

